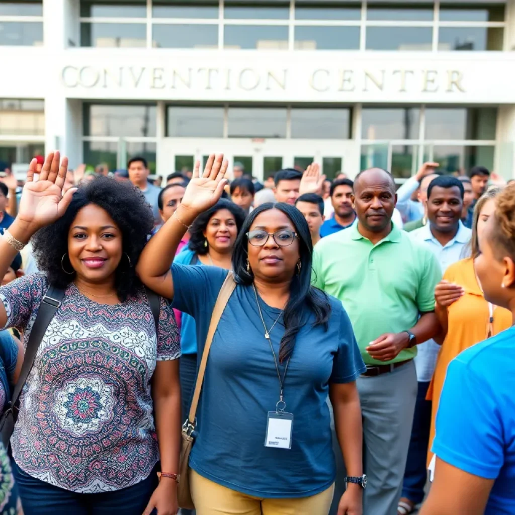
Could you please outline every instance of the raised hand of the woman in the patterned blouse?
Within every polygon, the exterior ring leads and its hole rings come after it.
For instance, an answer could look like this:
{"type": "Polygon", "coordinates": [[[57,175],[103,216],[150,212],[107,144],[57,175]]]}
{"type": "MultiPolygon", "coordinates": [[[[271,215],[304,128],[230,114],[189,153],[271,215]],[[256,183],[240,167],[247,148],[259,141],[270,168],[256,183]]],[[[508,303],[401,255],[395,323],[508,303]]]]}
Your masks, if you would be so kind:
{"type": "Polygon", "coordinates": [[[60,165],[59,161],[59,151],[50,152],[37,181],[34,180],[37,161],[33,159],[30,162],[27,182],[23,187],[18,209],[18,219],[25,222],[33,231],[60,218],[77,191],[77,188],[70,188],[63,196],[62,188],[68,170],[68,158],[63,158],[60,165]]]}

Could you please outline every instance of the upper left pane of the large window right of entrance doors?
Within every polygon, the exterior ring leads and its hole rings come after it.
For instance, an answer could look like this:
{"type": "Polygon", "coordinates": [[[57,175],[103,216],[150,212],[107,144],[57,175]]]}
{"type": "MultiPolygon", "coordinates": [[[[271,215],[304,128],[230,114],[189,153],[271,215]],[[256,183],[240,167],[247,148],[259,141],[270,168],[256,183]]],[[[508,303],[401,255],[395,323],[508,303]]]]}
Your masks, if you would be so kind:
{"type": "Polygon", "coordinates": [[[364,140],[414,140],[419,135],[418,108],[364,108],[364,140]]]}

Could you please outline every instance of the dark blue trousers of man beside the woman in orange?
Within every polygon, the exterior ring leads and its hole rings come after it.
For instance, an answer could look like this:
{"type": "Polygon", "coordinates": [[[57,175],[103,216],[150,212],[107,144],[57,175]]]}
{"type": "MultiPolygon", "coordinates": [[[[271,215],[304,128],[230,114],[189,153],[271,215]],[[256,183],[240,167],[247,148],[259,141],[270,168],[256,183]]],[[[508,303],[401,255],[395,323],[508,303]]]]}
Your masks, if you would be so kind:
{"type": "Polygon", "coordinates": [[[424,487],[427,482],[427,447],[429,445],[429,430],[431,427],[431,401],[425,396],[430,383],[419,382],[417,403],[411,439],[409,440],[408,460],[404,471],[402,496],[415,504],[424,500],[424,487]]]}

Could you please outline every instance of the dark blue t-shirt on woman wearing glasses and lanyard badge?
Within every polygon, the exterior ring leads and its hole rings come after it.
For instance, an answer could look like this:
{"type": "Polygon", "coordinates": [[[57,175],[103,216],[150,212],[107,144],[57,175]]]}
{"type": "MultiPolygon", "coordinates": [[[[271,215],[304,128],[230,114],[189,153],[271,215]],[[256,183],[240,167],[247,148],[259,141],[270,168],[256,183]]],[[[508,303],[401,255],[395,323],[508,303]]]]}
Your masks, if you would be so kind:
{"type": "MultiPolygon", "coordinates": [[[[176,263],[171,271],[173,307],[195,317],[200,354],[228,272],[176,263]]],[[[291,449],[273,449],[264,443],[268,411],[279,400],[279,379],[253,288],[236,286],[213,338],[197,410],[198,435],[190,466],[198,474],[264,498],[306,497],[333,484],[329,383],[352,382],[365,366],[347,313],[341,302],[329,299],[328,331],[314,328],[310,314],[297,335],[284,382],[286,411],[294,415],[291,449]]],[[[260,306],[270,329],[281,312],[261,299],[260,306]]],[[[270,331],[276,355],[284,334],[281,321],[270,331]]],[[[280,370],[282,374],[284,364],[280,370]]]]}

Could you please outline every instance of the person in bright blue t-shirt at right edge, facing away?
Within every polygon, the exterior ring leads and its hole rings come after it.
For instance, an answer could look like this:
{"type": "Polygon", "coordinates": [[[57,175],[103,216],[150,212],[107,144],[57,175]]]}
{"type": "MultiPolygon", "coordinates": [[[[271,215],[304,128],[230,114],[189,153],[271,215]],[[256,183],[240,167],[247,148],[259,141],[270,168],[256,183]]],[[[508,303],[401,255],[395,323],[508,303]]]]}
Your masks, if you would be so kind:
{"type": "MultiPolygon", "coordinates": [[[[496,198],[475,271],[485,299],[515,320],[515,184],[496,198]]],[[[515,328],[449,365],[436,418],[435,480],[421,515],[515,513],[515,328]]]]}

